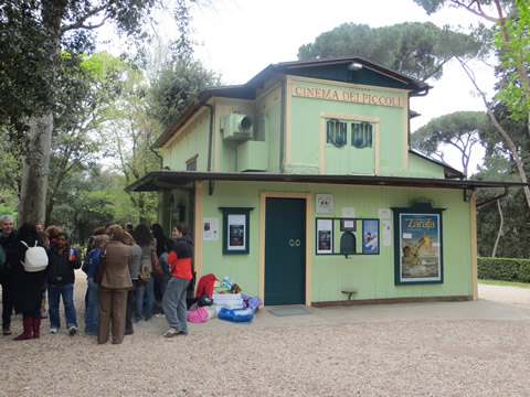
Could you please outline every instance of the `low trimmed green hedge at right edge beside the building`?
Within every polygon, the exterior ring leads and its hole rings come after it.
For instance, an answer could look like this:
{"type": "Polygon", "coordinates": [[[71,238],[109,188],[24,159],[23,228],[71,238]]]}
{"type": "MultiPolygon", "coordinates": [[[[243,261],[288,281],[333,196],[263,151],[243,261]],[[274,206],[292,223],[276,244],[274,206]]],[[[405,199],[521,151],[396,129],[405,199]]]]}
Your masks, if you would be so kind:
{"type": "Polygon", "coordinates": [[[478,278],[530,282],[530,259],[478,258],[478,278]]]}

